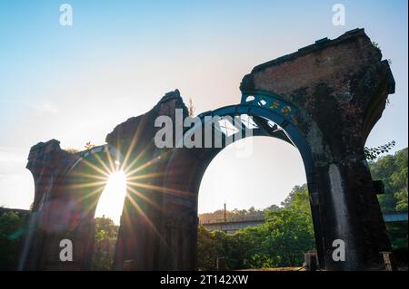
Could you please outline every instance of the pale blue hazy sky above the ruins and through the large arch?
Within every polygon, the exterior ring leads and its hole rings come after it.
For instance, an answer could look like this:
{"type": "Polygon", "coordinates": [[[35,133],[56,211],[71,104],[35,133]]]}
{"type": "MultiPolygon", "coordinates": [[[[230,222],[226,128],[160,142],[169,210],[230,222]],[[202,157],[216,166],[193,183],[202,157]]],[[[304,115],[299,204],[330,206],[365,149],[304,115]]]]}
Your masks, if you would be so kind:
{"type": "MultiPolygon", "coordinates": [[[[407,146],[407,1],[1,1],[0,206],[29,207],[31,146],[103,144],[115,125],[180,90],[196,111],[240,101],[244,74],[357,27],[392,60],[396,93],[367,145],[407,146]],[[73,7],[73,26],[59,6],[73,7]],[[345,6],[344,26],[332,24],[345,6]]],[[[224,149],[205,173],[199,211],[280,204],[305,181],[296,149],[254,138],[254,156],[224,149]],[[243,181],[248,178],[248,181],[243,181]],[[257,179],[257,181],[254,181],[257,179]]]]}

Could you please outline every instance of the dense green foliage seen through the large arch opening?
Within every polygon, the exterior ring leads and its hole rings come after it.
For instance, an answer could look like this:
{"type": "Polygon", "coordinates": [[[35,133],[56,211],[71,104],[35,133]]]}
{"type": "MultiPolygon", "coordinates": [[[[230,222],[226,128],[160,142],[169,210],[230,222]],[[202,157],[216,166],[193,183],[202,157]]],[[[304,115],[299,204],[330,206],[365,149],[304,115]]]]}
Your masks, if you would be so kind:
{"type": "Polygon", "coordinates": [[[218,257],[228,269],[302,265],[304,253],[314,249],[314,229],[304,186],[296,187],[284,207],[264,210],[265,223],[234,235],[198,229],[198,268],[215,270],[218,257]]]}

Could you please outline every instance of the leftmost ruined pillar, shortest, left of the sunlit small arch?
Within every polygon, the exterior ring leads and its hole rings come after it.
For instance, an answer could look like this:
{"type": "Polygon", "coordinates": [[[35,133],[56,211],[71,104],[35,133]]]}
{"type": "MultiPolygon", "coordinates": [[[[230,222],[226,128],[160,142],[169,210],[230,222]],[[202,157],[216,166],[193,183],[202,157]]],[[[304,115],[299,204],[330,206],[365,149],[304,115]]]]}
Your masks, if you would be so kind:
{"type": "Polygon", "coordinates": [[[115,171],[100,169],[110,166],[108,159],[121,160],[106,145],[68,152],[58,140],[49,140],[30,149],[26,168],[34,178],[35,198],[19,270],[92,269],[95,208],[108,174],[115,171]],[[66,240],[72,245],[72,260],[61,259],[66,240]]]}

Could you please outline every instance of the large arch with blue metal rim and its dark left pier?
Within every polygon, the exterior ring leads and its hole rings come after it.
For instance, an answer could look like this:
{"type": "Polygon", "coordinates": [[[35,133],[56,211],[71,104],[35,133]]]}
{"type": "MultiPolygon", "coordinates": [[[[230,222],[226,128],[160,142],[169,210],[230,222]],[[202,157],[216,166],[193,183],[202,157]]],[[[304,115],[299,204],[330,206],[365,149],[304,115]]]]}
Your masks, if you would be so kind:
{"type": "MultiPolygon", "coordinates": [[[[281,98],[279,98],[276,94],[269,94],[267,92],[250,94],[255,96],[255,102],[261,98],[267,100],[265,103],[266,105],[245,103],[245,100],[249,97],[249,95],[248,93],[244,93],[242,96],[242,104],[219,108],[217,110],[208,111],[199,115],[198,117],[203,120],[201,122],[202,131],[206,125],[206,116],[224,117],[248,115],[252,118],[256,118],[255,123],[257,124],[257,129],[254,129],[255,131],[252,136],[278,138],[280,140],[287,141],[291,145],[294,145],[294,147],[299,150],[304,162],[305,176],[310,192],[310,203],[314,220],[316,246],[320,252],[323,252],[324,244],[322,243],[323,236],[321,233],[319,207],[315,206],[316,204],[314,203],[317,196],[312,151],[308,143],[305,141],[303,134],[294,125],[289,115],[285,115],[277,112],[277,110],[271,110],[266,107],[274,101],[283,101],[281,98]],[[273,121],[275,124],[275,134],[273,133],[274,127],[270,127],[272,130],[268,130],[269,121],[273,121]],[[276,130],[276,125],[280,125],[279,127],[281,130],[276,130]]],[[[283,102],[284,104],[281,104],[281,107],[286,107],[289,105],[289,103],[286,103],[285,101],[283,102]]],[[[297,108],[293,104],[290,105],[293,111],[297,111],[297,108]]],[[[198,129],[199,127],[196,126],[192,130],[186,131],[184,139],[198,129]]],[[[247,136],[244,135],[243,138],[245,137],[247,136]]],[[[162,245],[163,252],[161,253],[161,255],[164,256],[164,259],[161,262],[161,264],[164,265],[163,269],[169,267],[181,270],[195,268],[197,199],[200,184],[205,174],[205,170],[210,165],[214,157],[231,143],[226,144],[224,142],[223,146],[219,149],[173,149],[168,156],[168,166],[165,170],[166,173],[162,187],[170,189],[175,193],[169,196],[165,195],[163,200],[163,206],[167,208],[165,213],[166,216],[163,218],[164,223],[162,224],[162,232],[164,232],[166,243],[162,245]],[[174,172],[177,173],[175,174],[174,172]],[[187,176],[188,178],[185,178],[187,176]],[[177,194],[177,192],[181,192],[181,194],[177,194]],[[173,233],[170,234],[170,231],[173,233]],[[171,237],[171,235],[179,236],[171,237]],[[180,244],[181,240],[183,240],[182,245],[180,244]],[[181,251],[184,253],[182,254],[181,251]]],[[[319,254],[319,256],[323,255],[319,254]]],[[[320,261],[324,266],[324,258],[322,258],[320,261]]]]}

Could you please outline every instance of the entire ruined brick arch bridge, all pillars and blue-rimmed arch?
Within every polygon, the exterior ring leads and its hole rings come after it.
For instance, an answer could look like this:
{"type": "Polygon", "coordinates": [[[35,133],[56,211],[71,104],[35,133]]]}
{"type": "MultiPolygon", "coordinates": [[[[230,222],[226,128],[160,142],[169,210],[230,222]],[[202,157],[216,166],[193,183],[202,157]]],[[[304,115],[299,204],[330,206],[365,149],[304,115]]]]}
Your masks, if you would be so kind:
{"type": "MultiPolygon", "coordinates": [[[[304,160],[321,267],[380,269],[379,253],[391,245],[364,158],[364,143],[381,118],[388,95],[394,93],[392,72],[379,49],[363,29],[334,40],[325,38],[254,67],[240,90],[240,104],[199,117],[251,115],[258,128],[254,133],[293,143],[304,160]],[[274,132],[268,120],[283,130],[274,132]],[[344,262],[332,257],[336,239],[344,240],[344,262]]],[[[128,187],[135,188],[125,200],[115,270],[195,269],[197,192],[205,169],[223,148],[158,149],[155,120],[163,115],[175,120],[176,109],[182,111],[182,120],[188,117],[179,92],[166,93],[151,111],[119,124],[106,137],[108,149],[87,160],[109,167],[113,156],[119,155],[109,148],[121,151],[128,187]]],[[[175,132],[175,140],[180,138],[175,132]]],[[[84,177],[86,166],[80,164],[75,169],[84,177]]],[[[72,189],[77,180],[67,168],[73,168],[73,156],[55,140],[31,149],[27,169],[35,178],[35,206],[21,269],[91,269],[95,208],[87,210],[78,202],[81,194],[88,193],[72,189]],[[75,205],[70,205],[73,200],[75,205]],[[75,207],[79,215],[68,214],[77,219],[71,217],[70,226],[62,226],[62,218],[54,218],[55,206],[63,211],[75,207]],[[46,226],[40,226],[43,218],[46,226]],[[59,235],[48,232],[49,227],[57,227],[59,235]],[[71,263],[57,259],[58,240],[65,236],[71,237],[74,247],[82,244],[71,263]]]]}

